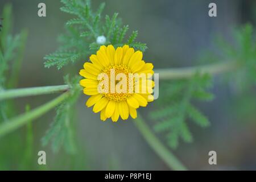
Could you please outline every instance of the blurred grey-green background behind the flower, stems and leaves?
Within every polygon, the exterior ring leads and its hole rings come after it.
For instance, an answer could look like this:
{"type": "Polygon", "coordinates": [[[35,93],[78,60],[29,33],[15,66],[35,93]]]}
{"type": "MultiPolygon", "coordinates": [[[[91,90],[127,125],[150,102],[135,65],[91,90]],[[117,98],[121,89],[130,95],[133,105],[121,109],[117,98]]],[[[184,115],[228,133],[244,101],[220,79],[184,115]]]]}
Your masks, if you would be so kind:
{"type": "MultiPolygon", "coordinates": [[[[56,50],[57,35],[64,32],[64,23],[71,18],[60,11],[62,4],[59,1],[1,0],[1,14],[7,2],[13,5],[14,32],[20,32],[23,28],[28,30],[18,88],[61,85],[64,84],[64,73],[79,72],[84,61],[60,71],[44,68],[43,57],[56,50]],[[46,3],[46,18],[38,17],[40,2],[46,3]]],[[[100,2],[93,0],[93,7],[97,7],[100,2]]],[[[104,14],[118,12],[123,22],[129,24],[130,30],[139,31],[138,40],[148,46],[144,60],[151,61],[155,68],[195,65],[201,52],[213,49],[215,35],[222,34],[230,38],[234,27],[246,22],[255,25],[256,19],[256,2],[253,0],[214,1],[217,3],[217,18],[208,16],[208,5],[212,2],[208,0],[105,2],[104,14]]],[[[216,77],[214,84],[215,100],[200,105],[211,126],[207,129],[189,126],[195,141],[191,144],[181,142],[174,153],[188,169],[256,169],[255,103],[245,99],[243,103],[239,102],[240,97],[244,96],[237,93],[232,83],[223,84],[216,77]],[[211,150],[217,152],[217,166],[208,164],[208,152],[211,150]]],[[[26,104],[34,108],[56,96],[18,98],[15,101],[16,114],[23,113],[26,104]]],[[[73,108],[77,110],[77,119],[73,121],[77,154],[67,155],[63,150],[53,154],[50,147],[42,147],[40,139],[55,115],[52,110],[32,123],[33,142],[30,152],[26,149],[26,127],[0,139],[0,169],[169,169],[142,138],[133,125],[134,121],[101,122],[99,114],[86,108],[86,98],[82,95],[76,108],[73,108]],[[40,150],[47,153],[46,166],[37,163],[40,150]]],[[[139,110],[144,115],[150,112],[149,108],[139,110]]],[[[151,121],[146,122],[152,125],[151,121]]]]}

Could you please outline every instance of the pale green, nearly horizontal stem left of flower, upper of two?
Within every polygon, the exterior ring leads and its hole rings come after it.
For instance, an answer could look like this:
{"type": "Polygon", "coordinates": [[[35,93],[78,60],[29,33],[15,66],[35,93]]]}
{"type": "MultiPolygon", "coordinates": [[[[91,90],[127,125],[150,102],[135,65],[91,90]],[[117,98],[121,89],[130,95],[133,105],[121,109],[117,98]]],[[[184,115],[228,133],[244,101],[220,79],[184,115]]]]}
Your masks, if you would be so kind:
{"type": "Polygon", "coordinates": [[[7,98],[25,97],[25,96],[38,96],[41,94],[51,94],[65,92],[69,89],[68,85],[56,86],[39,86],[34,88],[23,89],[10,89],[0,91],[0,101],[7,98]]]}

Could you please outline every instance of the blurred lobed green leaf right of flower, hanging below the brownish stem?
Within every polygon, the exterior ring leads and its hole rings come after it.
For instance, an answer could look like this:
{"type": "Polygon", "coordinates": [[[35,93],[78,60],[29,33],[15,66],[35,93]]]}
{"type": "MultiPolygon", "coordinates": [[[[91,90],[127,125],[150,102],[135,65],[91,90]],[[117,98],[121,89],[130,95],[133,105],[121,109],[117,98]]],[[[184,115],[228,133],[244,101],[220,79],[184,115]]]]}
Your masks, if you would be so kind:
{"type": "Polygon", "coordinates": [[[192,101],[212,100],[213,94],[207,91],[210,86],[212,80],[207,74],[196,74],[189,79],[164,82],[160,86],[160,96],[155,101],[155,105],[160,109],[152,111],[150,118],[155,121],[155,131],[166,134],[170,147],[176,148],[179,138],[185,142],[192,142],[187,119],[201,127],[209,126],[207,117],[192,104],[192,101]]]}

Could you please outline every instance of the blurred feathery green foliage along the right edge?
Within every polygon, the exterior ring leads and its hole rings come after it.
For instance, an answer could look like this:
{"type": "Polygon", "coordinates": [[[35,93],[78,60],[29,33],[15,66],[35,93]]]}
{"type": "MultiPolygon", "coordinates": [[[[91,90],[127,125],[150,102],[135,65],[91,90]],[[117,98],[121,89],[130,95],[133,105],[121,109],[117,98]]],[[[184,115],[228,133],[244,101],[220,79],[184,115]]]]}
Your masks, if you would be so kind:
{"type": "Polygon", "coordinates": [[[217,44],[220,53],[216,59],[238,61],[240,68],[227,74],[230,90],[236,100],[228,106],[238,121],[255,121],[255,84],[256,84],[256,37],[254,27],[247,23],[233,31],[232,41],[219,36],[217,44]]]}

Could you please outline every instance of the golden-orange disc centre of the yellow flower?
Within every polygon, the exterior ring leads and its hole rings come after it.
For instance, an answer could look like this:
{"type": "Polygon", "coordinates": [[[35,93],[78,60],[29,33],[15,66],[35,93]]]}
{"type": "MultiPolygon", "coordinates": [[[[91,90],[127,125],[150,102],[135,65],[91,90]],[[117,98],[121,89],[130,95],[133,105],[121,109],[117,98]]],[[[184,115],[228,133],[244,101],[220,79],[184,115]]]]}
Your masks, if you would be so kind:
{"type": "Polygon", "coordinates": [[[104,69],[103,73],[108,75],[109,78],[109,90],[108,92],[104,93],[104,96],[108,98],[108,100],[120,102],[125,101],[127,97],[131,96],[131,93],[129,93],[129,88],[134,88],[134,81],[133,79],[129,79],[129,73],[131,73],[131,71],[126,65],[110,65],[108,68],[104,69]],[[115,79],[113,85],[114,92],[111,90],[112,84],[110,83],[113,77],[115,79]],[[118,77],[120,77],[120,79],[118,77]],[[122,92],[118,92],[117,88],[121,88],[122,92]]]}

